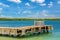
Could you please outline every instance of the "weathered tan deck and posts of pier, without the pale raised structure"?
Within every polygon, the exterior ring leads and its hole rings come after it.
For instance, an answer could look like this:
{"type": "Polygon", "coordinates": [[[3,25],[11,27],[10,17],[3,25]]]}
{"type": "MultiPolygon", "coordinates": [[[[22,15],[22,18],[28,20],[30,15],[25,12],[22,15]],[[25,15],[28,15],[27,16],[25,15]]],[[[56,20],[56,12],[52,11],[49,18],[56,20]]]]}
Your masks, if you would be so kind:
{"type": "Polygon", "coordinates": [[[36,33],[36,32],[47,32],[49,30],[52,30],[53,27],[50,25],[45,26],[26,26],[26,27],[19,27],[19,28],[7,28],[7,27],[0,27],[0,34],[7,34],[7,35],[26,35],[27,31],[30,33],[36,33]],[[30,30],[31,29],[31,30],[30,30]],[[17,32],[18,30],[21,30],[21,32],[17,32]],[[27,31],[26,31],[27,30],[27,31]]]}

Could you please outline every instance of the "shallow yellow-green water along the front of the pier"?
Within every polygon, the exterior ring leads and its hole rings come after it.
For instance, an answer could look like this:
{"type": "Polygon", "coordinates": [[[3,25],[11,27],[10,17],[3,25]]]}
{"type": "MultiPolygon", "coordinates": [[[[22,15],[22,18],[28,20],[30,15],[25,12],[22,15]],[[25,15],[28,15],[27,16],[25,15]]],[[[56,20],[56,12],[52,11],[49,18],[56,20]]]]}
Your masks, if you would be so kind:
{"type": "Polygon", "coordinates": [[[9,37],[9,36],[8,37],[7,36],[0,36],[0,39],[8,39],[8,40],[48,40],[52,37],[51,35],[53,35],[52,32],[43,33],[43,34],[39,34],[39,35],[18,37],[18,38],[13,38],[13,37],[9,37]]]}

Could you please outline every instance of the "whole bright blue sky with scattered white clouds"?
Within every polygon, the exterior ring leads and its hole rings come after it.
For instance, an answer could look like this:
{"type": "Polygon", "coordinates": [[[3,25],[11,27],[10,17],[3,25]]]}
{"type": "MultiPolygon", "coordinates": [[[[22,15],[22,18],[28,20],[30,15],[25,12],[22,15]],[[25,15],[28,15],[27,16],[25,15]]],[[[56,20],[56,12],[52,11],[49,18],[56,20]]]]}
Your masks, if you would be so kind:
{"type": "Polygon", "coordinates": [[[0,18],[60,18],[60,0],[0,0],[0,18]]]}

